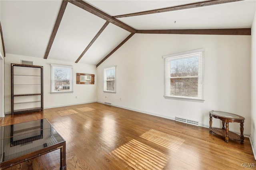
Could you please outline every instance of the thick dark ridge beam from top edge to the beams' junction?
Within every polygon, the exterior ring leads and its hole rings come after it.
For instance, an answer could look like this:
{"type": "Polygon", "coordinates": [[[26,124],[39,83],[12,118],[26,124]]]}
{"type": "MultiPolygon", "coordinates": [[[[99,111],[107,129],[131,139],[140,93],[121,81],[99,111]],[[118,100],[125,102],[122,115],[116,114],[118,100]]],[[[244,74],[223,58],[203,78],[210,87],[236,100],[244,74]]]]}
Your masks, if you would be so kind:
{"type": "Polygon", "coordinates": [[[123,22],[117,20],[116,18],[106,14],[105,12],[91,6],[90,4],[87,4],[86,2],[82,1],[82,0],[67,0],[68,2],[70,2],[71,4],[74,4],[116,26],[119,26],[121,28],[123,28],[124,30],[127,30],[128,32],[131,33],[135,33],[137,30],[135,30],[134,28],[124,24],[123,22]]]}

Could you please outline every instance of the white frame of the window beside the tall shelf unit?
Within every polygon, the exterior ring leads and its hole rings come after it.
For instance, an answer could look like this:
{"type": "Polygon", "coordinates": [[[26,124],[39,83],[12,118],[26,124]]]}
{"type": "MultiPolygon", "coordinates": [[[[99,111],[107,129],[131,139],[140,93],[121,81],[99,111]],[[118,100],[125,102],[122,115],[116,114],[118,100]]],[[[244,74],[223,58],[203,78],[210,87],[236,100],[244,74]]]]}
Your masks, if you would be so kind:
{"type": "Polygon", "coordinates": [[[56,94],[56,93],[73,93],[73,66],[69,66],[69,65],[57,65],[57,64],[51,64],[51,94],[56,94]],[[53,79],[53,68],[54,67],[58,67],[58,68],[63,68],[63,69],[70,69],[70,89],[69,91],[54,91],[54,79],[53,79]]]}

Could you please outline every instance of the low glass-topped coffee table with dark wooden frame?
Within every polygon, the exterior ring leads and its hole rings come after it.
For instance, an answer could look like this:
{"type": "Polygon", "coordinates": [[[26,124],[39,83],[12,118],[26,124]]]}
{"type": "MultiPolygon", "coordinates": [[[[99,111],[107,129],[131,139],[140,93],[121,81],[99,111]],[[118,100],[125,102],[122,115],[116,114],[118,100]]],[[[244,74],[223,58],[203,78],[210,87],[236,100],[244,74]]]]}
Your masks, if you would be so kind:
{"type": "Polygon", "coordinates": [[[66,141],[47,119],[0,127],[0,170],[60,149],[60,170],[66,170],[66,141]]]}

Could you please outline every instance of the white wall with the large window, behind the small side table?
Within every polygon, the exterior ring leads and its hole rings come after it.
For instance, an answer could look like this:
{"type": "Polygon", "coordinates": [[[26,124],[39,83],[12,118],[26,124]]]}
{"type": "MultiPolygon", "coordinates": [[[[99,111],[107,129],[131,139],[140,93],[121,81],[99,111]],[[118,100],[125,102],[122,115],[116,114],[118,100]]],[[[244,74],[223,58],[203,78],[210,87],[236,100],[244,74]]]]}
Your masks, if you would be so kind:
{"type": "MultiPolygon", "coordinates": [[[[209,111],[245,117],[250,134],[250,36],[135,34],[97,68],[97,101],[144,113],[200,121],[209,111]],[[205,48],[204,103],[164,99],[163,55],[205,48]],[[116,94],[103,92],[103,68],[116,65],[116,94]],[[120,100],[121,98],[121,100],[120,100]]],[[[220,120],[213,120],[220,127],[220,120]]],[[[240,132],[239,123],[230,130],[240,132]]]]}

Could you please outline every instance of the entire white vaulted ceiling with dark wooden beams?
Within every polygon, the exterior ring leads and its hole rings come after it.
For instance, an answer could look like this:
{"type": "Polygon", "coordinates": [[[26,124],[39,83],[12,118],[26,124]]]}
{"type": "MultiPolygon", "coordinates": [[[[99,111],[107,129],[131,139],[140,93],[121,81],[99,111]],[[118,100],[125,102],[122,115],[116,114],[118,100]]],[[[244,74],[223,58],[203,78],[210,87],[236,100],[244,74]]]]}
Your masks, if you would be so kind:
{"type": "Polygon", "coordinates": [[[250,35],[256,7],[256,0],[0,3],[6,53],[97,66],[134,34],[250,35]]]}

